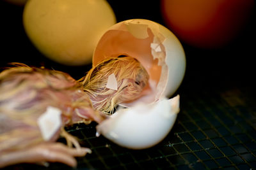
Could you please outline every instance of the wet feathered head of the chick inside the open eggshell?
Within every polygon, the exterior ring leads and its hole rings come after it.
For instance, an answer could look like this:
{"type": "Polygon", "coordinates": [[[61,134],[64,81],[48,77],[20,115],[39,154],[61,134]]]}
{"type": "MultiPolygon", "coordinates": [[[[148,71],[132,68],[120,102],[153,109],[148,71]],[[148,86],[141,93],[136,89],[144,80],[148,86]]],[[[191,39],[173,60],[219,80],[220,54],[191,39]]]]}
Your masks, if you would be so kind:
{"type": "Polygon", "coordinates": [[[93,67],[79,80],[92,101],[93,107],[111,114],[117,104],[126,103],[143,96],[148,85],[148,73],[133,57],[121,55],[106,59],[93,67]],[[108,77],[115,74],[117,90],[108,89],[108,77]]]}

